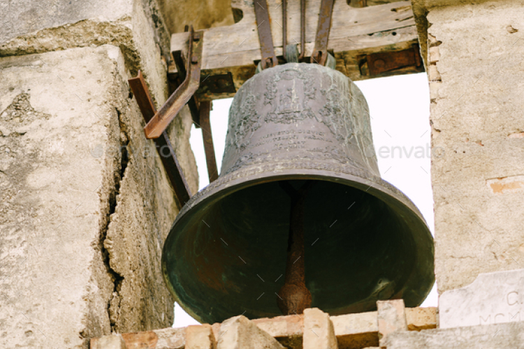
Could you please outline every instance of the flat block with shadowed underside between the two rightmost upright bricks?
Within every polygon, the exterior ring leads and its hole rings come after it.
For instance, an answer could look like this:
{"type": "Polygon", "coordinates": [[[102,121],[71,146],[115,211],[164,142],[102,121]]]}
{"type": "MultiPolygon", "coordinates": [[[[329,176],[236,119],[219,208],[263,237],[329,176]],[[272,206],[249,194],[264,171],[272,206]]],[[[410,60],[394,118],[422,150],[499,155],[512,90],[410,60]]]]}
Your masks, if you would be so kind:
{"type": "Polygon", "coordinates": [[[339,349],[379,345],[377,311],[331,316],[339,349]]]}

